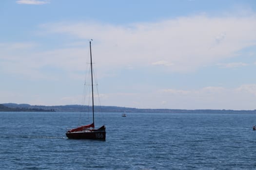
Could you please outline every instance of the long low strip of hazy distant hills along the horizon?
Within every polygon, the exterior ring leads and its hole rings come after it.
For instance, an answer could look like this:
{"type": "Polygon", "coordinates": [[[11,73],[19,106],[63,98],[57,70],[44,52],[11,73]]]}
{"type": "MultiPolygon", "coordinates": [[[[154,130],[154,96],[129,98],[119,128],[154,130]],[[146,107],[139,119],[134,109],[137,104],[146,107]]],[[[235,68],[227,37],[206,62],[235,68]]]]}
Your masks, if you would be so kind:
{"type": "MultiPolygon", "coordinates": [[[[33,111],[33,112],[89,112],[92,110],[91,106],[83,105],[30,105],[30,104],[16,104],[3,103],[0,104],[0,111],[33,111]],[[8,110],[9,109],[9,110],[8,110]]],[[[210,109],[138,109],[130,107],[118,106],[95,106],[95,112],[109,112],[109,113],[255,113],[256,110],[210,110],[210,109]]]]}

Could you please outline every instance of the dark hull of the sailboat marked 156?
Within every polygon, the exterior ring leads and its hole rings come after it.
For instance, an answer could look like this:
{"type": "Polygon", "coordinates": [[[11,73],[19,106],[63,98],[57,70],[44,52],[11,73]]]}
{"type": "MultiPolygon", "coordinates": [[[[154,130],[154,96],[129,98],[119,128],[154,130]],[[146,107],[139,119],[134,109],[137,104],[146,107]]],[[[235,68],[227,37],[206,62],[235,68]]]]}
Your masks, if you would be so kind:
{"type": "Polygon", "coordinates": [[[95,140],[105,140],[105,131],[96,132],[67,132],[66,136],[70,139],[95,139],[95,140]]]}

